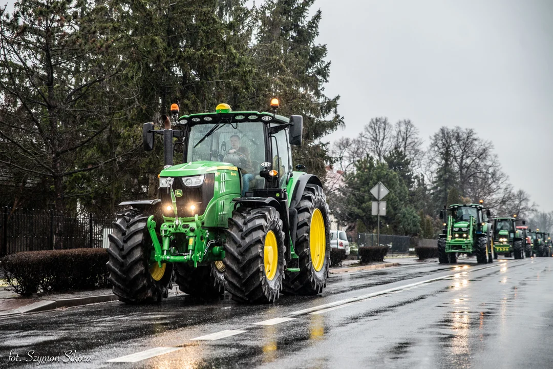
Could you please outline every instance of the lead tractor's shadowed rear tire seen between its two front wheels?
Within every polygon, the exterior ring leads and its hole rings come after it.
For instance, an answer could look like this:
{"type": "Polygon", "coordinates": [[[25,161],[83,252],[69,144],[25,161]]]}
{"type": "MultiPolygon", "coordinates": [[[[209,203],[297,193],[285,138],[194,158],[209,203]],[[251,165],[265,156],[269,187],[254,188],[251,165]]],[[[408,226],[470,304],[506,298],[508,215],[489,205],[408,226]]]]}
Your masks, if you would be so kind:
{"type": "Polygon", "coordinates": [[[196,268],[177,263],[175,283],[186,294],[205,300],[216,299],[225,293],[225,268],[222,264],[217,268],[215,263],[196,268]]]}

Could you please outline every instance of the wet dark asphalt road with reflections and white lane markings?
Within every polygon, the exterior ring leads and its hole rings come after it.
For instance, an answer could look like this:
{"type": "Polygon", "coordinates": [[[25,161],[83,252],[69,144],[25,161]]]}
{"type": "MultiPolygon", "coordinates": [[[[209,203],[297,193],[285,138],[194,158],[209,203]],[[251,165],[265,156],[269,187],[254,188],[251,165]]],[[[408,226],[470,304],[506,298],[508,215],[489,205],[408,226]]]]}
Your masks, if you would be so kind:
{"type": "Polygon", "coordinates": [[[34,350],[59,356],[40,367],[59,368],[551,368],[552,267],[553,258],[471,259],[332,276],[317,297],[270,305],[179,295],[29,314],[0,320],[0,367],[36,367],[25,362],[34,350]],[[253,325],[273,318],[286,319],[253,325]],[[225,330],[235,335],[192,340],[225,330]],[[90,363],[64,363],[69,350],[90,363]],[[117,358],[139,361],[108,362],[117,358]]]}

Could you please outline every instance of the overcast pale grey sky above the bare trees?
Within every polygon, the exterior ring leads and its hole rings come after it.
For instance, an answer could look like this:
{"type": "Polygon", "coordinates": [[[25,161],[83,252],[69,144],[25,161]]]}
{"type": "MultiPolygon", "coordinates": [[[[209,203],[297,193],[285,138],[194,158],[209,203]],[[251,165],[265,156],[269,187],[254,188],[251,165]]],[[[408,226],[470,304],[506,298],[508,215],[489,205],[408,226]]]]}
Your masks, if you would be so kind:
{"type": "Polygon", "coordinates": [[[441,126],[491,140],[515,188],[553,210],[553,1],[317,0],[354,137],[368,117],[410,118],[425,144],[441,126]]]}

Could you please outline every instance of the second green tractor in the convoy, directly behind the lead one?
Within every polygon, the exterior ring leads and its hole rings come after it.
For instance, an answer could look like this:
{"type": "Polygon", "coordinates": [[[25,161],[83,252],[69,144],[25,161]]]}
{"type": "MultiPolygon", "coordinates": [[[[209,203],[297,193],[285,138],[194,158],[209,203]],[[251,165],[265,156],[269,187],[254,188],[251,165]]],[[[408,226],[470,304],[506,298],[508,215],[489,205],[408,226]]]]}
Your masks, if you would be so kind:
{"type": "Polygon", "coordinates": [[[480,204],[454,204],[440,211],[444,230],[438,238],[438,259],[441,264],[456,263],[457,253],[476,253],[478,263],[493,262],[492,225],[489,209],[480,204]],[[486,213],[484,214],[484,209],[486,213]]]}

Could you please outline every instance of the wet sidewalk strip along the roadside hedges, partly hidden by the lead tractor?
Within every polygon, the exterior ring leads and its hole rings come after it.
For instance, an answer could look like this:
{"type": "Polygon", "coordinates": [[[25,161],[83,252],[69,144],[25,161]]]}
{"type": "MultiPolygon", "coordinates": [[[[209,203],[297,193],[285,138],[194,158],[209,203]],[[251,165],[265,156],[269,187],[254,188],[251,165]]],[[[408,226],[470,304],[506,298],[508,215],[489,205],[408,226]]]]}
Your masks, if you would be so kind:
{"type": "MultiPolygon", "coordinates": [[[[417,264],[419,262],[437,262],[437,259],[418,261],[416,257],[385,258],[384,262],[374,262],[363,266],[359,265],[358,260],[346,259],[342,261],[341,267],[330,268],[330,274],[389,268],[401,265],[417,264]]],[[[17,293],[8,291],[7,285],[3,282],[3,279],[0,279],[0,318],[25,313],[34,313],[37,311],[71,308],[74,306],[106,303],[117,300],[117,297],[112,293],[111,288],[59,294],[38,294],[33,295],[32,297],[21,297],[17,293]]],[[[176,295],[180,293],[182,292],[178,291],[176,287],[169,291],[169,295],[176,295]]]]}

